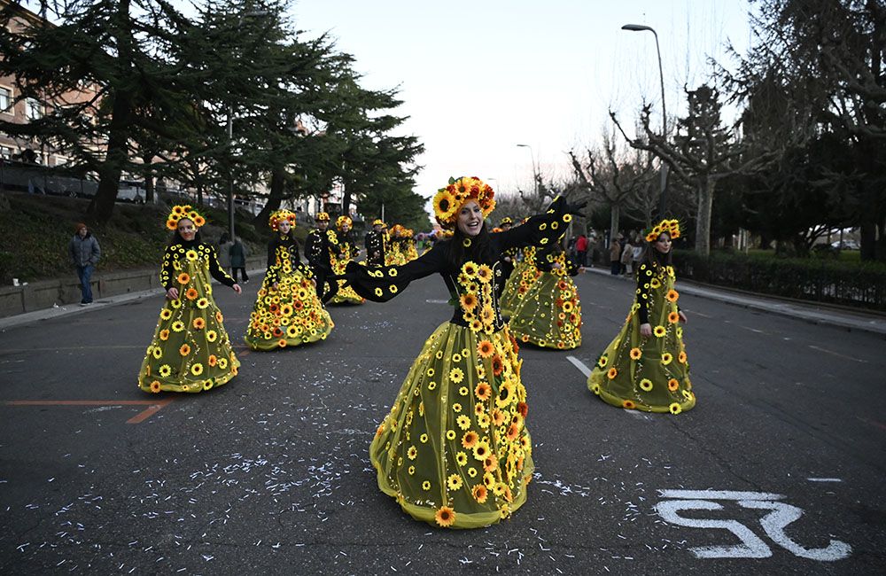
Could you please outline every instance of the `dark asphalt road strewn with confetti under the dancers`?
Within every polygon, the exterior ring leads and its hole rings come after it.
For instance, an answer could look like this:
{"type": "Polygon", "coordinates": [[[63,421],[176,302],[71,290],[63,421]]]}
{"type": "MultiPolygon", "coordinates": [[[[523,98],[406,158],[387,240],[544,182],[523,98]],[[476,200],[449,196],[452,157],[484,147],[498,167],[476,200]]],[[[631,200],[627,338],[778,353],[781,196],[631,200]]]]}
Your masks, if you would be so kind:
{"type": "MultiPolygon", "coordinates": [[[[239,298],[216,290],[238,342],[258,280],[239,298]]],[[[196,395],[136,387],[159,296],[0,333],[0,572],[882,570],[882,337],[684,295],[698,405],[628,412],[588,392],[581,369],[618,331],[633,286],[576,280],[583,346],[521,351],[529,500],[473,531],[409,518],[377,489],[367,453],[450,315],[437,277],[385,305],[331,308],[324,342],[240,344],[240,375],[196,395]]]]}

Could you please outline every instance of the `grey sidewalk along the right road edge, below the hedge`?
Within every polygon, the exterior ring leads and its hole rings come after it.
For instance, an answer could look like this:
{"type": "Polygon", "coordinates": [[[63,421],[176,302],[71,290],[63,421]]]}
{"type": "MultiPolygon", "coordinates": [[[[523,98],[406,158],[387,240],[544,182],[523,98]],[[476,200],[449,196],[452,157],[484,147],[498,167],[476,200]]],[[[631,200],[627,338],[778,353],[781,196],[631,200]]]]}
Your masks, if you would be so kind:
{"type": "MultiPolygon", "coordinates": [[[[612,276],[609,269],[586,268],[586,272],[609,276],[613,280],[624,281],[626,276],[612,276]]],[[[770,314],[789,316],[813,324],[836,326],[847,330],[871,332],[886,337],[886,316],[866,314],[863,311],[844,310],[842,308],[819,306],[815,303],[781,300],[775,297],[739,292],[714,286],[699,284],[691,280],[679,281],[679,292],[692,294],[709,300],[718,300],[733,306],[741,306],[760,310],[770,314]]]]}

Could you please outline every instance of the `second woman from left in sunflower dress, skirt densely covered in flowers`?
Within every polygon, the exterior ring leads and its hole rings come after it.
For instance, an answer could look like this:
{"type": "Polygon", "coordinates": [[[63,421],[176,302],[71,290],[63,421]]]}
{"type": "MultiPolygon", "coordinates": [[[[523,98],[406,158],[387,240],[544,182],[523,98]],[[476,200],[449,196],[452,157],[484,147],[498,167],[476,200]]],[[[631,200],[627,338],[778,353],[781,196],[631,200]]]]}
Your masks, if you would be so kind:
{"type": "Polygon", "coordinates": [[[267,351],[326,339],[335,324],[317,296],[311,269],[299,261],[295,213],[277,210],[268,225],[274,230],[268,271],[249,315],[246,344],[267,351]]]}

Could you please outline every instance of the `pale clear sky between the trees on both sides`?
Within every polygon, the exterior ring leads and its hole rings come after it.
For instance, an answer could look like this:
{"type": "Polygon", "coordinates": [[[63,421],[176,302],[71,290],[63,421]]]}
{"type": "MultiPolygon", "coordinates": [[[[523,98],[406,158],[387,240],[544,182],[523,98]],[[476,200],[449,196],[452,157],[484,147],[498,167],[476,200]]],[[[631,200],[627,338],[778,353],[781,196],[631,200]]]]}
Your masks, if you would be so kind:
{"type": "Polygon", "coordinates": [[[623,24],[656,29],[672,122],[709,56],[727,62],[727,41],[746,51],[748,10],[747,0],[296,0],[291,15],[307,37],[337,38],[363,86],[400,88],[403,131],[425,146],[416,192],[430,198],[450,175],[532,187],[533,157],[569,175],[564,151],[598,142],[610,107],[632,128],[642,95],[659,128],[655,37],[623,24]]]}

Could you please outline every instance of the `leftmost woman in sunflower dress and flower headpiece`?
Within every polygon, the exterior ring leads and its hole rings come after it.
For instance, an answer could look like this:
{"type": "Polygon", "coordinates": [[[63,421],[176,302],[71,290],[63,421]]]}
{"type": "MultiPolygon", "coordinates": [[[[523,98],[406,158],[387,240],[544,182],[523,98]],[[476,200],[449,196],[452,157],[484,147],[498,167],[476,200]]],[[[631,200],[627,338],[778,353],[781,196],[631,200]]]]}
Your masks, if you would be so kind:
{"type": "Polygon", "coordinates": [[[167,228],[175,230],[160,270],[167,300],[138,371],[138,387],[145,392],[203,392],[237,376],[240,362],[209,277],[237,294],[240,285],[221,269],[214,246],[200,239],[204,223],[190,206],[173,206],[167,218],[167,228]]]}

